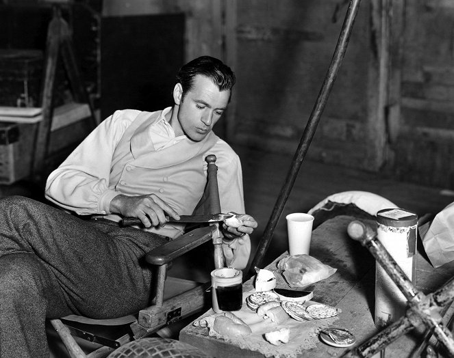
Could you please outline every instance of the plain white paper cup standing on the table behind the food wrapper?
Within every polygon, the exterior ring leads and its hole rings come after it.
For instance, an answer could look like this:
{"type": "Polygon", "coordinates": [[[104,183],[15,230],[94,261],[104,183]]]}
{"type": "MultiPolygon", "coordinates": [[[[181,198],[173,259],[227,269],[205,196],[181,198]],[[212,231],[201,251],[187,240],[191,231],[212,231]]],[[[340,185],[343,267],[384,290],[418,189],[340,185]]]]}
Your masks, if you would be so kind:
{"type": "Polygon", "coordinates": [[[288,232],[288,252],[291,256],[305,253],[309,255],[314,217],[304,212],[294,212],[286,216],[288,232]]]}

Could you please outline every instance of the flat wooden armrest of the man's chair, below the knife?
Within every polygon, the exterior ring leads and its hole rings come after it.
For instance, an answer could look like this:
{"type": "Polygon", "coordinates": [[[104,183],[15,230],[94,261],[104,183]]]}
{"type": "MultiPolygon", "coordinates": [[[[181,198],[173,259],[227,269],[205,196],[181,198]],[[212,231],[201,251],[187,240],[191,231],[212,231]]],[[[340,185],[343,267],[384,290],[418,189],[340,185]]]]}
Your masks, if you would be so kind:
{"type": "Polygon", "coordinates": [[[216,231],[216,225],[194,229],[179,238],[175,238],[175,240],[149,251],[145,256],[145,260],[149,264],[157,266],[168,264],[184,253],[194,249],[194,247],[211,240],[214,231],[216,231]]]}

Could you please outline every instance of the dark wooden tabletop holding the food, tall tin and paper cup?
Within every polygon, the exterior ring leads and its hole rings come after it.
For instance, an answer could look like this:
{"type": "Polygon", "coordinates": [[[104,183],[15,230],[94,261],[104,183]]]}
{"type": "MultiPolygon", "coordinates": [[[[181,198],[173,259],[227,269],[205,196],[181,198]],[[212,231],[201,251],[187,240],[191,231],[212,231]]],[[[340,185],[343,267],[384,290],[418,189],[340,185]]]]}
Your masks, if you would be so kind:
{"type": "MultiPolygon", "coordinates": [[[[312,234],[310,255],[338,269],[331,277],[314,285],[313,300],[342,309],[342,314],[339,315],[339,320],[334,325],[353,332],[357,339],[355,344],[357,346],[377,333],[373,320],[375,260],[366,248],[347,236],[346,227],[353,219],[355,218],[339,216],[325,221],[316,228],[312,234]]],[[[418,251],[420,251],[420,247],[418,247],[418,251]]],[[[279,258],[266,266],[266,269],[276,270],[275,265],[279,258]]],[[[424,293],[433,292],[453,275],[454,262],[433,269],[425,258],[425,254],[421,255],[418,252],[416,269],[418,290],[424,293]]],[[[253,279],[245,282],[244,292],[253,289],[252,285],[253,279]]],[[[453,312],[453,307],[450,307],[444,320],[449,320],[453,316],[453,312]]],[[[212,313],[210,310],[205,313],[205,316],[212,313]]],[[[399,338],[386,348],[386,357],[409,357],[422,341],[423,333],[414,330],[399,338]]],[[[207,329],[194,327],[192,324],[181,331],[179,339],[192,346],[197,346],[205,353],[217,358],[264,357],[257,351],[244,350],[223,339],[210,337],[207,329]]],[[[268,343],[264,341],[264,344],[268,343]]],[[[348,349],[335,348],[320,341],[316,344],[316,348],[303,350],[299,357],[336,357],[348,349]]]]}

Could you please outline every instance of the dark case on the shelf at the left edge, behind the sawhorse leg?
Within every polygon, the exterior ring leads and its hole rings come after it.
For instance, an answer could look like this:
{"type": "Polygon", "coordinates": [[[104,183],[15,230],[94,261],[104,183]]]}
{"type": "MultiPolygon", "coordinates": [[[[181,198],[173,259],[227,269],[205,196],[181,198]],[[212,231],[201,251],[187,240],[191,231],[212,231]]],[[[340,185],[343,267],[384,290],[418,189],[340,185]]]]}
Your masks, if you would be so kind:
{"type": "Polygon", "coordinates": [[[42,51],[0,49],[0,106],[38,107],[42,70],[42,51]]]}

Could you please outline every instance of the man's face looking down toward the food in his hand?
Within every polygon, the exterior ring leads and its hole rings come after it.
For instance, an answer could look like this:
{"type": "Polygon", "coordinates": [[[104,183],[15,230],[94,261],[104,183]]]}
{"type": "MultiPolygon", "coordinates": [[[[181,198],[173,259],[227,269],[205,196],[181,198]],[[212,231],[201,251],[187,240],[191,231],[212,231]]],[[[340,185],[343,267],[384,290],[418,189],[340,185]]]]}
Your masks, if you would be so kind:
{"type": "Polygon", "coordinates": [[[175,98],[175,102],[179,104],[177,118],[183,133],[193,141],[205,138],[223,115],[229,97],[229,90],[220,91],[210,79],[198,74],[194,78],[194,87],[186,92],[184,99],[181,100],[181,96],[175,98]]]}

